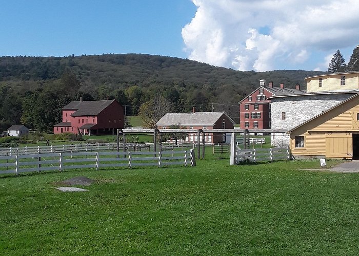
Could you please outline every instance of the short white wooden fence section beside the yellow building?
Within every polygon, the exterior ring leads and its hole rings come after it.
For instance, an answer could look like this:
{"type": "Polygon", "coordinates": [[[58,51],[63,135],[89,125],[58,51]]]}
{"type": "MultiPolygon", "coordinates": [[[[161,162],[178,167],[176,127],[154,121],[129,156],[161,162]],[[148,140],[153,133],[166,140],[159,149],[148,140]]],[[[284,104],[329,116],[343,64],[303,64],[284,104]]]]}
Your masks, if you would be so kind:
{"type": "Polygon", "coordinates": [[[290,160],[289,147],[281,148],[256,148],[252,150],[241,150],[236,148],[235,161],[238,164],[244,160],[250,160],[252,162],[258,161],[273,161],[278,159],[290,160]]]}

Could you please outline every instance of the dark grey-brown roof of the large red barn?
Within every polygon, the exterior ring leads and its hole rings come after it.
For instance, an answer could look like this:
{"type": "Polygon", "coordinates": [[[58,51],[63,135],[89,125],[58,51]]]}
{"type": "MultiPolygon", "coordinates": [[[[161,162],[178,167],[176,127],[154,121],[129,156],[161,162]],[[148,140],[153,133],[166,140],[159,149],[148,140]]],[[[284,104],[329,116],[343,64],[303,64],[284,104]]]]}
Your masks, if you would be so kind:
{"type": "Polygon", "coordinates": [[[76,110],[71,116],[96,116],[107,108],[114,99],[95,101],[71,101],[62,110],[76,110]]]}

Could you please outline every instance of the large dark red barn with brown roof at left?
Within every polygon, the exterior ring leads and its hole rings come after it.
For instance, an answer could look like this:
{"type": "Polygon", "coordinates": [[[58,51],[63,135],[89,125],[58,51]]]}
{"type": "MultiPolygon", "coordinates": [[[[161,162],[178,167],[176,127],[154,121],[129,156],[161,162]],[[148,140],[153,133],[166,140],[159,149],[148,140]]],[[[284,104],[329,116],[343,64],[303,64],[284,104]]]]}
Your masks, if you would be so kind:
{"type": "Polygon", "coordinates": [[[116,100],[71,101],[64,106],[63,121],[54,134],[115,134],[124,127],[124,109],[116,100]]]}

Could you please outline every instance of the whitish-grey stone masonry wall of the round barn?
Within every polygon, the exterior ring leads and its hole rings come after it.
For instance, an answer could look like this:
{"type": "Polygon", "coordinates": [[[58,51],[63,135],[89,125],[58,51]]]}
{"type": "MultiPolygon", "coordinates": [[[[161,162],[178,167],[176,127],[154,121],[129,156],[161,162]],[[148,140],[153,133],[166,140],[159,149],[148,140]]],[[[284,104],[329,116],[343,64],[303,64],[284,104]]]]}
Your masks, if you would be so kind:
{"type": "MultiPolygon", "coordinates": [[[[289,131],[295,126],[321,114],[353,94],[320,94],[273,98],[271,103],[271,128],[289,131]],[[286,119],[282,120],[282,112],[286,119]]],[[[272,145],[289,146],[289,134],[272,133],[272,145]]]]}

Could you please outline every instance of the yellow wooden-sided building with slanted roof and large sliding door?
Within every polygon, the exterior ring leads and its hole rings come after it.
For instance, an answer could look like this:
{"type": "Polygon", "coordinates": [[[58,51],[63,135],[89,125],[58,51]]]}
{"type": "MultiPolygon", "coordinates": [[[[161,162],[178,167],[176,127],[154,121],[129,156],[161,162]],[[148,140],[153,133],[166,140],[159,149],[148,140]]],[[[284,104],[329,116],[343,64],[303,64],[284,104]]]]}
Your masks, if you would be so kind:
{"type": "Polygon", "coordinates": [[[294,158],[359,158],[359,94],[288,133],[294,158]]]}

